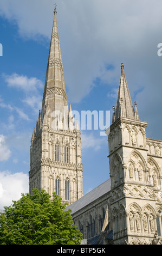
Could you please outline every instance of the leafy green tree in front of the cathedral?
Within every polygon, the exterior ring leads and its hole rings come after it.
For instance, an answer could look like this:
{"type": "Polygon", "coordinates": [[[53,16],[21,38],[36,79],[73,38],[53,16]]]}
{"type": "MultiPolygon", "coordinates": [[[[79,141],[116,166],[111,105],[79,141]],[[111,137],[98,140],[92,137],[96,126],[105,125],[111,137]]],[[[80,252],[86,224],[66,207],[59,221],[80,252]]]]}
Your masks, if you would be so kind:
{"type": "Polygon", "coordinates": [[[0,244],[5,245],[78,245],[82,239],[73,224],[71,210],[53,193],[44,191],[22,194],[18,201],[0,214],[0,244]]]}

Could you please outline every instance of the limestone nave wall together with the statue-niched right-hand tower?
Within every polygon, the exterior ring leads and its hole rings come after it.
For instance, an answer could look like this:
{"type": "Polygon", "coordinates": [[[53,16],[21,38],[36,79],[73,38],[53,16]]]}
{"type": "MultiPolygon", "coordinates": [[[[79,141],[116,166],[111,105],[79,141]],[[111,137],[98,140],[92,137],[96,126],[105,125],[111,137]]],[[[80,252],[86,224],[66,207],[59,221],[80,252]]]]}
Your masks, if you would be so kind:
{"type": "MultiPolygon", "coordinates": [[[[83,239],[119,245],[162,244],[162,141],[147,138],[146,127],[147,123],[139,119],[137,102],[132,106],[121,64],[116,109],[113,107],[112,125],[106,131],[110,168],[107,182],[111,181],[111,186],[107,183],[104,194],[99,193],[78,211],[77,202],[68,206],[75,224],[83,230],[83,239]],[[100,216],[104,222],[100,222],[100,216]]],[[[86,196],[80,200],[86,201],[86,196]]]]}

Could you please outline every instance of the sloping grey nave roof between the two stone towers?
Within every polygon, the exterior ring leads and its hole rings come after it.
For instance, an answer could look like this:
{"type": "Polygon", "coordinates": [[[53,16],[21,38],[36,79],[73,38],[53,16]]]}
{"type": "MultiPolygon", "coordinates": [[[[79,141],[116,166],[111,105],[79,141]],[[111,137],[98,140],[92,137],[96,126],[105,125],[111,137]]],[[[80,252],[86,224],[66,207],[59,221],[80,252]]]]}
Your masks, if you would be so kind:
{"type": "Polygon", "coordinates": [[[72,214],[74,212],[82,209],[86,205],[92,203],[94,200],[98,199],[99,197],[106,194],[108,191],[111,190],[111,179],[106,180],[98,187],[94,188],[94,190],[85,194],[85,196],[81,197],[79,200],[75,201],[73,204],[70,204],[66,207],[66,210],[71,209],[72,214]]]}

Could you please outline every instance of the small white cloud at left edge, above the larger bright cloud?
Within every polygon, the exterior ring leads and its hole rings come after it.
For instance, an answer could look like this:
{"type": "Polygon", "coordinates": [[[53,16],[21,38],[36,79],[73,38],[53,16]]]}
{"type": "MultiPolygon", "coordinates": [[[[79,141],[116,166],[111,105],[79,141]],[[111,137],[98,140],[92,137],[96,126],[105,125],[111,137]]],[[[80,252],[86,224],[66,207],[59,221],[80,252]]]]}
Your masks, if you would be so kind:
{"type": "Polygon", "coordinates": [[[11,156],[11,151],[8,148],[6,143],[6,137],[4,135],[0,135],[0,162],[7,161],[11,156]]]}

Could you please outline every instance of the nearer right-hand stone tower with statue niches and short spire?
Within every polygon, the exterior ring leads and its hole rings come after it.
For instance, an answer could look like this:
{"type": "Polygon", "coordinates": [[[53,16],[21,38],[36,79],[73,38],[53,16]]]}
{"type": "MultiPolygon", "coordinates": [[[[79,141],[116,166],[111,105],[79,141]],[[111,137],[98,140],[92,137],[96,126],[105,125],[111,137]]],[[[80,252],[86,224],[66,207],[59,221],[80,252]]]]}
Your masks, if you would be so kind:
{"type": "Polygon", "coordinates": [[[162,143],[146,138],[147,123],[139,119],[137,103],[132,105],[124,64],[112,119],[108,143],[114,243],[152,244],[162,235],[162,143]]]}

